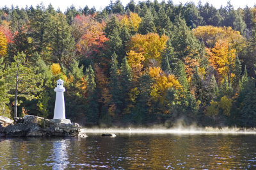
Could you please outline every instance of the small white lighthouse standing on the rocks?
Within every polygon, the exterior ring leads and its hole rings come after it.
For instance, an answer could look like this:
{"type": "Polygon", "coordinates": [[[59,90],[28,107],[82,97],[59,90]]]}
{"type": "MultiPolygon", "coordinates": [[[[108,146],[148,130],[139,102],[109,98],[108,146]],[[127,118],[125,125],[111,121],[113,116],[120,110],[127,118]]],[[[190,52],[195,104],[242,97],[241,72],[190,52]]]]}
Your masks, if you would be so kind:
{"type": "Polygon", "coordinates": [[[63,82],[63,80],[58,79],[57,87],[54,89],[54,91],[56,91],[56,100],[53,119],[66,119],[64,102],[64,92],[66,91],[66,89],[63,87],[63,82]]]}

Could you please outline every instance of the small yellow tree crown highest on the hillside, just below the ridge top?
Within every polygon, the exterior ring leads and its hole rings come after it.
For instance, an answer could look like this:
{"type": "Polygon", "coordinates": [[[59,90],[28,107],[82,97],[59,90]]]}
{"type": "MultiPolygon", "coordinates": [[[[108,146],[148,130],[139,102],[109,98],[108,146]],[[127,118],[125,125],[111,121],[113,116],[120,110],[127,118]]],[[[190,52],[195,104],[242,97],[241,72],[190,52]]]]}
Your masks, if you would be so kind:
{"type": "Polygon", "coordinates": [[[137,13],[130,12],[129,15],[125,15],[120,21],[121,25],[129,27],[134,31],[138,31],[140,26],[141,17],[137,13]]]}

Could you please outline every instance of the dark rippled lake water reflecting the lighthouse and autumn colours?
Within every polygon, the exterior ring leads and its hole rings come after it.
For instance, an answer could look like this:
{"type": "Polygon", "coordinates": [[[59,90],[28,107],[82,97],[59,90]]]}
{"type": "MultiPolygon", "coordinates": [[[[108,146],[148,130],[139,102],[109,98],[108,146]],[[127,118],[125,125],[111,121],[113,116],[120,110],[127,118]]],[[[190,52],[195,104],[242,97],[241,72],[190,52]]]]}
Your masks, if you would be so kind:
{"type": "Polygon", "coordinates": [[[0,169],[256,169],[256,134],[0,138],[0,169]]]}

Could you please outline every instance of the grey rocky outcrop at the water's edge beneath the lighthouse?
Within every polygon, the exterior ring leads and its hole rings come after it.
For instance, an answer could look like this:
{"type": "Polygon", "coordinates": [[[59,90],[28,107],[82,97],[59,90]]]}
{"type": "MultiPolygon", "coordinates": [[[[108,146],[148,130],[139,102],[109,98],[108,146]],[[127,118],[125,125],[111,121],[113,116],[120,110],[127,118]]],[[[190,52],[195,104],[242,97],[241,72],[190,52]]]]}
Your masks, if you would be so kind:
{"type": "Polygon", "coordinates": [[[11,120],[0,116],[0,137],[86,137],[78,123],[26,115],[11,120]]]}

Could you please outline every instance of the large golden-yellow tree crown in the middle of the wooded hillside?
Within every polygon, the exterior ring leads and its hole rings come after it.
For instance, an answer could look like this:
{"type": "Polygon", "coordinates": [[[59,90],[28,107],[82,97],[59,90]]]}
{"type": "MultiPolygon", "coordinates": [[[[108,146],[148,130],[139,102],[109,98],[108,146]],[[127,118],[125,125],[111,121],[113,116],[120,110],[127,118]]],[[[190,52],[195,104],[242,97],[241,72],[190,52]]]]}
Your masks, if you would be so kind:
{"type": "Polygon", "coordinates": [[[128,43],[128,51],[133,50],[136,53],[141,53],[145,57],[145,64],[148,64],[150,59],[156,59],[161,62],[161,52],[163,51],[168,36],[162,35],[161,37],[157,33],[148,33],[147,35],[134,35],[131,37],[128,43]]]}

